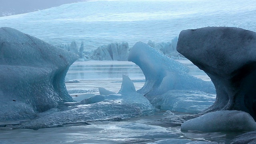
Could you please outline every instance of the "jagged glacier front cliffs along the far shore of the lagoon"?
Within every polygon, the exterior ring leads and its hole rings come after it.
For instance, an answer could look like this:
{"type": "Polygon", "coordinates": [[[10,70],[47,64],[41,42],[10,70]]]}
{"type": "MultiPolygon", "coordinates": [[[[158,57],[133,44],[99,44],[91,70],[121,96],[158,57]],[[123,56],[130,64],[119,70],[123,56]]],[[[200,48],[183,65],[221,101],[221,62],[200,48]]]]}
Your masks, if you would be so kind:
{"type": "MultiPolygon", "coordinates": [[[[153,42],[152,40],[148,41],[148,45],[152,48],[158,50],[167,57],[174,59],[184,58],[180,53],[177,52],[176,46],[178,43],[178,37],[175,37],[170,42],[153,42]]],[[[81,46],[78,52],[78,42],[73,40],[71,43],[60,43],[55,44],[60,48],[79,54],[80,61],[88,60],[118,60],[118,61],[127,61],[128,55],[130,53],[130,46],[128,42],[112,42],[108,45],[102,45],[96,48],[94,45],[84,44],[81,42],[81,46]]]]}

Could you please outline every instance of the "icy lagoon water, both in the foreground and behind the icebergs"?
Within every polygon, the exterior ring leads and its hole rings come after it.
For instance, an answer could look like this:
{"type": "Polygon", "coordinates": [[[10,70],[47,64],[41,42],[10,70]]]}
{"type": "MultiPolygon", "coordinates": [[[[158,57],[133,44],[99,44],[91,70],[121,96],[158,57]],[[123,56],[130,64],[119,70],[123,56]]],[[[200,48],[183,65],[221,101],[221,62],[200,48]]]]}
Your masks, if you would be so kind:
{"type": "MultiPolygon", "coordinates": [[[[180,60],[190,67],[190,74],[209,81],[208,76],[188,60],[180,60]]],[[[136,90],[144,85],[144,75],[132,62],[89,61],[75,62],[66,76],[66,87],[70,95],[98,94],[98,87],[118,92],[122,83],[122,74],[130,77],[136,90]]],[[[139,116],[124,120],[93,121],[86,124],[67,124],[62,128],[44,128],[39,130],[0,128],[0,143],[156,143],[186,144],[190,142],[230,143],[241,133],[198,133],[180,132],[180,124],[188,113],[156,112],[148,116],[139,116]],[[168,121],[168,122],[165,122],[168,121]]]]}

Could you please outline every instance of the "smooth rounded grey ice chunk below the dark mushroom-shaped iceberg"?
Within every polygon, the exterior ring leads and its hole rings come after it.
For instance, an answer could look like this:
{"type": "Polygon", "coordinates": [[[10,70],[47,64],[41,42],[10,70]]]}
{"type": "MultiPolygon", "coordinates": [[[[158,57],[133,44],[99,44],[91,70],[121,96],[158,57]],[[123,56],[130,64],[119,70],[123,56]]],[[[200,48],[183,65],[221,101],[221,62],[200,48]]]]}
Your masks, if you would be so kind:
{"type": "Polygon", "coordinates": [[[256,122],[250,114],[237,110],[210,112],[188,120],[181,125],[182,132],[227,132],[256,130],[256,122]]]}

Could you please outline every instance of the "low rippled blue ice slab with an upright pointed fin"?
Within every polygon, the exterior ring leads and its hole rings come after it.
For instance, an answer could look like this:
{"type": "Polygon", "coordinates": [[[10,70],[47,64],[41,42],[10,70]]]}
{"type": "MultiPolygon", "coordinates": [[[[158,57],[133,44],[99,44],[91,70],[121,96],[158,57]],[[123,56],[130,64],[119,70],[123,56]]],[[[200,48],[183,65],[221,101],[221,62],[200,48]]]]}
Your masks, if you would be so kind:
{"type": "Polygon", "coordinates": [[[81,102],[68,102],[59,112],[46,113],[42,117],[24,122],[15,128],[61,127],[70,124],[88,124],[99,120],[122,120],[154,111],[152,104],[142,94],[134,91],[132,82],[123,76],[123,84],[118,94],[95,95],[81,102]],[[126,89],[128,88],[128,89],[126,89]]]}

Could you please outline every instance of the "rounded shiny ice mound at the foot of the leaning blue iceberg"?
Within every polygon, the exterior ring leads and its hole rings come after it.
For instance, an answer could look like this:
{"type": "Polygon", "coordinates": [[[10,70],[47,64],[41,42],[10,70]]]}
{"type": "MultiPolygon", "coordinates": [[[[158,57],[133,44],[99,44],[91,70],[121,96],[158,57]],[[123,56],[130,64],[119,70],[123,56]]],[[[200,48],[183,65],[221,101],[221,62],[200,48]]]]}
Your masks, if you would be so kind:
{"type": "Polygon", "coordinates": [[[192,90],[170,90],[165,94],[153,96],[151,104],[160,110],[198,113],[215,102],[215,94],[192,90]]]}

